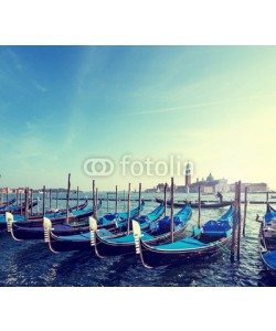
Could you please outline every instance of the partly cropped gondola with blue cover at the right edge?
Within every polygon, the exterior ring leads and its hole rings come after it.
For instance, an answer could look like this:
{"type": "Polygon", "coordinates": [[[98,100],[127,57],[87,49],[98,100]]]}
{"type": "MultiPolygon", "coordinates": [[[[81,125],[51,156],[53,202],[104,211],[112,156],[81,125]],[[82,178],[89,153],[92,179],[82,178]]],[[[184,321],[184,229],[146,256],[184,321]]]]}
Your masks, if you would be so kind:
{"type": "Polygon", "coordinates": [[[258,253],[266,269],[276,273],[276,211],[267,203],[264,220],[259,220],[258,253]]]}

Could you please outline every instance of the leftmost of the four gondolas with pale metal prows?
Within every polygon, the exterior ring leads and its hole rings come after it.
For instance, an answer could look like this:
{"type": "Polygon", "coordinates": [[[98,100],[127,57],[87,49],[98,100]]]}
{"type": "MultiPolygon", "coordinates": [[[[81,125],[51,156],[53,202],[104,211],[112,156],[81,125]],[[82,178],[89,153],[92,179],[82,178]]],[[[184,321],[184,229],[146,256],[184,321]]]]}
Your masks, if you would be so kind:
{"type": "MultiPolygon", "coordinates": [[[[97,205],[97,210],[102,206],[102,201],[97,205]]],[[[88,217],[94,213],[93,207],[73,211],[68,214],[68,223],[66,223],[66,214],[57,217],[53,217],[51,221],[55,227],[57,234],[66,233],[79,233],[82,231],[87,231],[88,228],[88,217]]],[[[28,241],[28,239],[43,239],[44,227],[43,221],[32,220],[24,222],[14,222],[13,215],[6,213],[7,217],[7,229],[11,233],[11,236],[15,241],[28,241]]]]}

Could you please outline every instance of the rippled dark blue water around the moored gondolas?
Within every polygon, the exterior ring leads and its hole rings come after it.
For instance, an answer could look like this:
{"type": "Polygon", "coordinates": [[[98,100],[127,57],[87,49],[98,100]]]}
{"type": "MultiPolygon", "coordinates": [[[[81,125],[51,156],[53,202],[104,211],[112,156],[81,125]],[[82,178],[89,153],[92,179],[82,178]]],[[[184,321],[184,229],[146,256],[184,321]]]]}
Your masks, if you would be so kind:
{"type": "MultiPolygon", "coordinates": [[[[106,196],[106,195],[103,195],[106,196]]],[[[159,195],[161,197],[161,195],[159,195]]],[[[132,196],[135,197],[135,196],[132,196]]],[[[145,199],[152,195],[144,194],[145,199]]],[[[195,199],[195,195],[189,196],[195,199]]],[[[176,194],[176,200],[184,199],[176,194]]],[[[214,196],[204,196],[214,200],[214,196]]],[[[231,194],[225,200],[232,199],[231,194]]],[[[264,195],[248,195],[248,200],[265,200],[264,195]]],[[[64,202],[63,202],[64,203],[64,202]]],[[[74,202],[72,202],[72,205],[74,202]]],[[[131,202],[135,207],[137,202],[131,202]]],[[[126,206],[126,204],[125,204],[126,206]]],[[[146,201],[146,212],[156,207],[146,201]]],[[[109,201],[109,212],[114,203],[109,201]]],[[[124,209],[124,203],[119,204],[124,209]]],[[[242,205],[243,209],[243,205],[242,205]]],[[[202,223],[222,215],[227,207],[202,210],[202,223]]],[[[176,210],[178,211],[178,210],[176,210]]],[[[100,213],[105,214],[106,202],[100,213]]],[[[53,254],[42,241],[15,242],[6,231],[0,232],[1,287],[268,287],[276,278],[264,268],[257,247],[259,223],[256,213],[263,215],[264,204],[248,204],[246,236],[242,238],[241,261],[231,263],[230,254],[222,253],[204,261],[189,265],[146,269],[134,256],[116,256],[98,259],[89,252],[53,254]]],[[[187,232],[197,223],[198,210],[193,211],[187,232]]]]}

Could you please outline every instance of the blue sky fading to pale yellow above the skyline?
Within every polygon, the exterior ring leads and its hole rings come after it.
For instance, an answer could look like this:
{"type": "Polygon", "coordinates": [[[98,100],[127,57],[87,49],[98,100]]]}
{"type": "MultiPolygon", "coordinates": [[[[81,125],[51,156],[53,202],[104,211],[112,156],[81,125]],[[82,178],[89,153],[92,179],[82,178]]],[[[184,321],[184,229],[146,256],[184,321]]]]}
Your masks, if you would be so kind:
{"type": "Polygon", "coordinates": [[[275,105],[276,46],[2,45],[0,186],[184,184],[190,161],[276,189],[275,105]]]}

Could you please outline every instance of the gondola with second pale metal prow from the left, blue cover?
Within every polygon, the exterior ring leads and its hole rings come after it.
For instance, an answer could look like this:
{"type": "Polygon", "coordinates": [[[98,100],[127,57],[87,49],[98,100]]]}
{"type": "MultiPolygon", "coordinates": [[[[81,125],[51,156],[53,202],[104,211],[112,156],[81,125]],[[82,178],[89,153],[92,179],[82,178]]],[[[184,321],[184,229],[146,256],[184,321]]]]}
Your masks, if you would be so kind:
{"type": "MultiPolygon", "coordinates": [[[[137,209],[135,209],[137,211],[137,209]]],[[[141,222],[141,226],[147,227],[149,226],[149,223],[156,222],[164,211],[163,204],[160,204],[155,211],[147,215],[142,216],[135,216],[135,218],[139,222],[141,222]],[[155,217],[153,217],[155,215],[155,217]]],[[[125,213],[121,213],[124,215],[125,213]]],[[[91,218],[91,217],[89,217],[91,218]]],[[[130,216],[131,218],[131,216],[130,216]]],[[[97,221],[96,221],[97,222],[97,221]]],[[[100,224],[98,225],[99,231],[103,233],[106,232],[105,225],[100,224]]],[[[121,232],[121,227],[110,227],[108,233],[118,233],[121,232]]],[[[47,220],[46,223],[44,223],[44,239],[46,243],[49,243],[49,248],[53,253],[59,252],[68,252],[68,250],[84,250],[84,249],[92,249],[91,246],[91,226],[83,228],[82,232],[78,232],[76,234],[68,235],[57,235],[55,227],[52,227],[51,220],[47,220]]],[[[94,252],[94,247],[93,247],[94,252]]]]}

